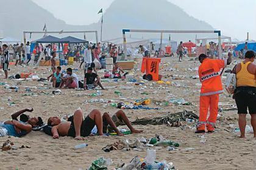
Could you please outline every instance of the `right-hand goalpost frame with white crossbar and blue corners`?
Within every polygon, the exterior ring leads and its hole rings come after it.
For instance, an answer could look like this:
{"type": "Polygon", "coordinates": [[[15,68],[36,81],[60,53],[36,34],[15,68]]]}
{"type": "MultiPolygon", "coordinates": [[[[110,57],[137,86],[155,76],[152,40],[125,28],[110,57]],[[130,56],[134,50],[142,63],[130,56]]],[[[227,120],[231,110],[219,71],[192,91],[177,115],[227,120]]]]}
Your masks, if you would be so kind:
{"type": "Polygon", "coordinates": [[[127,57],[127,46],[126,46],[126,32],[137,32],[137,33],[161,33],[161,43],[163,33],[218,33],[218,44],[219,44],[219,58],[222,59],[222,49],[221,49],[221,31],[220,30],[129,30],[123,29],[123,43],[124,43],[124,56],[127,57]]]}

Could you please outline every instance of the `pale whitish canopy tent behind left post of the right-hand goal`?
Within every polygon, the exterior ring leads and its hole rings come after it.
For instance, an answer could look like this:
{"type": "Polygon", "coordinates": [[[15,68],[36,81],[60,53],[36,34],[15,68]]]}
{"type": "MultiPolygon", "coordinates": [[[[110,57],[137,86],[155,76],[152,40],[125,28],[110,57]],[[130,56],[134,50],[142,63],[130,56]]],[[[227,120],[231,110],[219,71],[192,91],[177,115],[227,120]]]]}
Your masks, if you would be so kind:
{"type": "MultiPolygon", "coordinates": [[[[127,47],[135,49],[140,45],[146,46],[149,44],[149,39],[140,39],[140,38],[127,38],[127,47]]],[[[123,38],[115,38],[115,39],[108,39],[102,42],[111,42],[117,46],[123,46],[123,38]]]]}

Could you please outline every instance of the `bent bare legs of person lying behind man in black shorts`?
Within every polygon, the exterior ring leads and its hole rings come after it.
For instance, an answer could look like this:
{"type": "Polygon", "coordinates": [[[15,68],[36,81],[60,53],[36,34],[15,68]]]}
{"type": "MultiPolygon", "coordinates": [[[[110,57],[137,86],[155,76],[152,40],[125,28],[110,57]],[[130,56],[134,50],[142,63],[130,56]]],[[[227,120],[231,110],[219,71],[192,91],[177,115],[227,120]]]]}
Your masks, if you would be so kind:
{"type": "Polygon", "coordinates": [[[115,115],[112,116],[112,118],[107,112],[105,112],[102,116],[102,120],[104,133],[115,131],[117,135],[123,136],[124,134],[122,134],[117,127],[124,124],[129,127],[132,134],[139,134],[143,132],[142,130],[134,129],[123,110],[119,110],[118,112],[116,112],[115,115]]]}

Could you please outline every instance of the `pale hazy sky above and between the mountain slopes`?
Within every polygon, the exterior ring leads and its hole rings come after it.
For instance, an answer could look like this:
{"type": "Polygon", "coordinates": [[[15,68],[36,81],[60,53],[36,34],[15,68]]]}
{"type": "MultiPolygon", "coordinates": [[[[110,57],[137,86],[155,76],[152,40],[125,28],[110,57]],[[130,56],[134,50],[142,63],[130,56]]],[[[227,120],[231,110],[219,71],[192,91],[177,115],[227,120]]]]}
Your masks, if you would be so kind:
{"type": "MultiPolygon", "coordinates": [[[[98,22],[101,16],[97,15],[99,9],[107,9],[114,0],[32,1],[49,10],[56,18],[62,19],[68,24],[87,25],[98,22]]],[[[256,0],[168,1],[178,5],[194,18],[206,21],[215,29],[222,30],[224,35],[243,40],[246,39],[246,32],[249,32],[250,39],[256,40],[256,0]]]]}

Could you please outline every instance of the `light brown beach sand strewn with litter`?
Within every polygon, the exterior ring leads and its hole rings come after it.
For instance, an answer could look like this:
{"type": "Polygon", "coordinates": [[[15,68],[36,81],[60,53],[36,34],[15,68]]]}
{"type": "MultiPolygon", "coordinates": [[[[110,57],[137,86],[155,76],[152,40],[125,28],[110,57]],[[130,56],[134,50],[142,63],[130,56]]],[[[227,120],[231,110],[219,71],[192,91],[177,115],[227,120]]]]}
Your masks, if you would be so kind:
{"type": "MultiPolygon", "coordinates": [[[[160,73],[164,75],[164,81],[171,81],[182,84],[185,87],[175,87],[165,84],[156,84],[147,82],[143,86],[135,86],[134,83],[127,81],[119,82],[103,82],[102,84],[108,90],[101,90],[103,96],[89,97],[87,94],[95,92],[95,90],[77,91],[71,89],[63,89],[61,95],[52,95],[53,89],[32,89],[38,94],[37,96],[23,96],[26,94],[25,86],[37,87],[51,87],[51,84],[37,81],[15,81],[15,80],[1,80],[8,84],[20,83],[18,92],[9,92],[9,89],[4,89],[0,86],[1,93],[1,117],[0,120],[9,120],[10,115],[17,110],[26,107],[34,107],[34,112],[29,113],[31,116],[41,116],[44,121],[47,121],[50,116],[60,116],[65,114],[73,114],[74,110],[81,107],[84,114],[87,115],[92,109],[99,109],[101,112],[110,112],[114,114],[118,109],[112,106],[105,106],[104,103],[85,103],[85,100],[90,101],[91,98],[104,98],[109,100],[121,101],[135,101],[138,98],[148,97],[151,100],[169,100],[171,98],[184,98],[190,101],[193,105],[190,106],[157,106],[151,103],[150,107],[161,107],[161,110],[124,110],[131,121],[143,117],[157,117],[168,113],[180,112],[184,109],[191,110],[195,114],[199,114],[199,89],[200,82],[186,77],[184,80],[172,80],[167,75],[186,75],[194,76],[197,72],[194,70],[186,70],[189,67],[195,68],[199,66],[198,61],[188,61],[190,58],[185,58],[182,63],[177,61],[177,58],[164,58],[162,60],[160,73]],[[178,70],[169,70],[170,68],[177,68],[178,70]],[[132,87],[132,89],[125,90],[124,87],[132,87]],[[144,87],[146,86],[146,87],[144,87]],[[122,87],[122,89],[121,89],[122,87]],[[144,88],[144,89],[141,89],[144,88]],[[115,90],[123,92],[123,96],[118,97],[114,94],[115,90]],[[141,95],[141,92],[148,92],[149,95],[141,95]],[[176,97],[173,97],[176,96],[176,97]],[[8,98],[15,102],[14,106],[9,106],[8,98]],[[123,98],[126,98],[124,100],[123,98]]],[[[73,68],[78,66],[77,63],[73,68]]],[[[230,66],[231,68],[232,66],[230,66]]],[[[66,69],[67,67],[63,67],[66,69]]],[[[39,77],[46,78],[51,73],[49,67],[14,67],[10,66],[10,75],[18,72],[25,72],[30,70],[37,73],[39,77]]],[[[3,72],[1,72],[3,77],[3,72]]],[[[75,72],[82,78],[82,70],[75,72]]],[[[99,73],[103,75],[103,73],[99,73]]],[[[135,78],[140,81],[141,73],[135,71],[135,78]]],[[[235,101],[225,92],[220,95],[220,102],[224,103],[219,106],[222,108],[230,108],[235,105],[235,101]]],[[[217,128],[214,134],[205,134],[205,143],[201,143],[201,138],[194,134],[194,124],[187,124],[185,129],[180,127],[170,126],[135,126],[137,129],[143,129],[144,132],[137,135],[125,135],[123,137],[87,137],[86,141],[76,141],[71,137],[60,137],[53,139],[51,136],[43,132],[30,132],[22,138],[16,137],[1,137],[0,143],[10,139],[15,143],[15,146],[27,145],[31,148],[24,148],[11,151],[0,151],[0,169],[79,169],[88,168],[91,161],[104,156],[111,158],[113,165],[110,169],[115,168],[120,163],[129,163],[133,157],[139,155],[144,158],[146,150],[144,151],[111,151],[106,153],[101,149],[106,144],[111,144],[116,140],[126,140],[129,138],[135,140],[138,137],[151,138],[155,134],[163,135],[172,141],[180,143],[179,151],[166,151],[166,148],[157,148],[157,160],[166,160],[174,163],[177,169],[255,169],[255,139],[252,134],[247,134],[246,139],[238,138],[238,134],[232,132],[229,124],[237,123],[236,111],[221,112],[228,120],[217,121],[217,128]],[[191,127],[191,128],[190,128],[191,127]],[[74,146],[80,143],[87,143],[88,147],[84,149],[74,149],[74,146]],[[191,151],[185,151],[186,148],[194,148],[191,151]]],[[[247,117],[249,123],[249,116],[247,117]]],[[[125,126],[124,126],[125,127],[125,126]]]]}

